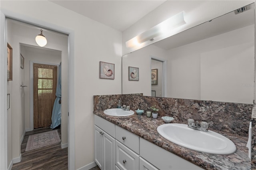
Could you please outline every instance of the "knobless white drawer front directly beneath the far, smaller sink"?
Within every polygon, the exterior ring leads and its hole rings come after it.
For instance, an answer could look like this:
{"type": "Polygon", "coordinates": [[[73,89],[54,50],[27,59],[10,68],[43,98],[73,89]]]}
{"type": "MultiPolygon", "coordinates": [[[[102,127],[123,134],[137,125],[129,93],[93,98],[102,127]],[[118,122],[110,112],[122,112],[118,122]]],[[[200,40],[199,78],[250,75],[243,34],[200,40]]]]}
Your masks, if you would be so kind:
{"type": "Polygon", "coordinates": [[[94,124],[110,134],[110,136],[115,137],[115,125],[113,123],[94,115],[94,124]]]}

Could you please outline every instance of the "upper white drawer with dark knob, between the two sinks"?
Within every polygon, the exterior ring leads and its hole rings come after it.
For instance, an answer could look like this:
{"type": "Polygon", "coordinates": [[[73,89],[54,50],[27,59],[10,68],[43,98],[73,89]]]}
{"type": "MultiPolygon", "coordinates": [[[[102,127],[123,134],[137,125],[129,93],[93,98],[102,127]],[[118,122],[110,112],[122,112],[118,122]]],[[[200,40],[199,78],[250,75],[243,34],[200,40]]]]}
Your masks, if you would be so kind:
{"type": "Polygon", "coordinates": [[[116,126],[116,139],[139,154],[140,138],[136,134],[125,130],[124,128],[116,126]]]}

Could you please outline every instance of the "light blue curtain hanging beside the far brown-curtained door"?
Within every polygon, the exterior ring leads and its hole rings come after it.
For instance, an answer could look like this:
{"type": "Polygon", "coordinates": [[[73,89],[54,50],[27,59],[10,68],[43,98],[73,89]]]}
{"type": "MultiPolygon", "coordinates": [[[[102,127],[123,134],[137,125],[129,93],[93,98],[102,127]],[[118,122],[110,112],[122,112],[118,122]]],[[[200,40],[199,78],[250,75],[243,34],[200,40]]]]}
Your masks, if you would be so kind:
{"type": "Polygon", "coordinates": [[[59,66],[59,76],[55,95],[56,99],[52,109],[52,125],[50,128],[58,127],[61,120],[61,62],[59,66]]]}

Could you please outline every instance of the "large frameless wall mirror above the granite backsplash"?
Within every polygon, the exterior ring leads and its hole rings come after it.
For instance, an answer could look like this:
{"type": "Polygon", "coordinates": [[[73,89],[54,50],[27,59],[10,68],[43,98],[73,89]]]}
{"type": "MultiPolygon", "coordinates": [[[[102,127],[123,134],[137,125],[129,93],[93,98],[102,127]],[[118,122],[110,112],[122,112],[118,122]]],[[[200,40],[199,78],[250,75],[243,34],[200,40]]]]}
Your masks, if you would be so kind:
{"type": "Polygon", "coordinates": [[[124,55],[122,93],[252,104],[254,3],[245,8],[124,55]],[[128,67],[138,68],[138,81],[128,67]]]}

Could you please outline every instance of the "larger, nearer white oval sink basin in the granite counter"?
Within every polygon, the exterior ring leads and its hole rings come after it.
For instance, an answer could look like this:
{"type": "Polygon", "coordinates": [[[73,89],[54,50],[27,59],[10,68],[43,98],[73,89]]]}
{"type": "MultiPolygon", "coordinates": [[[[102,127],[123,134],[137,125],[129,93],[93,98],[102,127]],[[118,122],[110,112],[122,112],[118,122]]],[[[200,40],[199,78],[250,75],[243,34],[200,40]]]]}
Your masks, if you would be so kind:
{"type": "Polygon", "coordinates": [[[160,125],[157,131],[167,140],[199,152],[232,154],[236,151],[236,146],[230,139],[211,130],[202,132],[188,128],[188,125],[171,123],[160,125]]]}

